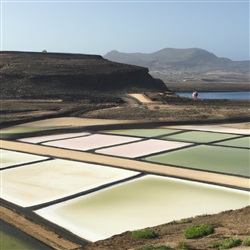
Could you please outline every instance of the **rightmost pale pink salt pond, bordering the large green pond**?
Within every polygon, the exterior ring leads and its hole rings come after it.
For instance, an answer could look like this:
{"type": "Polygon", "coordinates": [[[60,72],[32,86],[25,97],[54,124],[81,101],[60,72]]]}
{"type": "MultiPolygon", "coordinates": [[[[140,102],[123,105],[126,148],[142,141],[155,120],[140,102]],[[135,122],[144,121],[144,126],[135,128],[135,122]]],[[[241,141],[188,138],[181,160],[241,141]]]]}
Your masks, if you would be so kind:
{"type": "Polygon", "coordinates": [[[149,139],[145,141],[100,149],[96,150],[95,152],[100,154],[135,158],[161,151],[167,151],[170,149],[176,149],[187,145],[190,145],[190,143],[149,139]]]}

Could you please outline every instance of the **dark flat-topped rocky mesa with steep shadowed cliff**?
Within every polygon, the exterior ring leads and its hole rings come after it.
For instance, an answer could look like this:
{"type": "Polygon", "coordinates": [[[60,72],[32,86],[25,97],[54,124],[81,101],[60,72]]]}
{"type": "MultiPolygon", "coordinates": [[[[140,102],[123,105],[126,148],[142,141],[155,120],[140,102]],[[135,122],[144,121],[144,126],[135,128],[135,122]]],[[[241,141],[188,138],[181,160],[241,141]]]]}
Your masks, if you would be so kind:
{"type": "Polygon", "coordinates": [[[98,55],[0,52],[1,98],[63,98],[86,91],[164,91],[148,69],[98,55]]]}

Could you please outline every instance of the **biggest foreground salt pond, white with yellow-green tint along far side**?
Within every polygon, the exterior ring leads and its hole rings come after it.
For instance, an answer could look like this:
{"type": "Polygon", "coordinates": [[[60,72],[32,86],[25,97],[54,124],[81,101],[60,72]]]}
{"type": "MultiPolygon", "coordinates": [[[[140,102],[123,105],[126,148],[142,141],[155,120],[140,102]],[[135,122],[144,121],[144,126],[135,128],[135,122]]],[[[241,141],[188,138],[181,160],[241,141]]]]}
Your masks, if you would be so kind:
{"type": "Polygon", "coordinates": [[[148,175],[36,213],[90,241],[249,205],[249,193],[148,175]],[[215,195],[216,194],[216,195],[215,195]]]}

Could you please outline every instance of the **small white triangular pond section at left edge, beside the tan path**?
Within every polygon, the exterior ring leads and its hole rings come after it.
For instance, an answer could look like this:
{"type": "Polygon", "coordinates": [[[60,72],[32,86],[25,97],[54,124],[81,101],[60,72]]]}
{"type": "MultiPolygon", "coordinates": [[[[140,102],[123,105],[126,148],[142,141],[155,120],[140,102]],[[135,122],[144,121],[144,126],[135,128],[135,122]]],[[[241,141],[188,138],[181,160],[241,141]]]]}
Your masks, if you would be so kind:
{"type": "Polygon", "coordinates": [[[1,156],[0,169],[48,159],[48,157],[27,154],[27,153],[20,153],[5,149],[0,149],[0,156],[1,156]]]}

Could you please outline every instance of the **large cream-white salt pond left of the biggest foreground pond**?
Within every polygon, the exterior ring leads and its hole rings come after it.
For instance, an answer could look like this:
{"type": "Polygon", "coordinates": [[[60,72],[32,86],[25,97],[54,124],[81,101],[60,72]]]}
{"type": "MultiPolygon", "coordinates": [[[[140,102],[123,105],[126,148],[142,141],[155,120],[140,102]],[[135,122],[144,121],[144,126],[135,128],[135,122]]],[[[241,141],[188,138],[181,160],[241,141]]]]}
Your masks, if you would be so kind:
{"type": "Polygon", "coordinates": [[[103,165],[50,160],[2,171],[1,198],[23,207],[34,206],[137,174],[103,165]]]}

